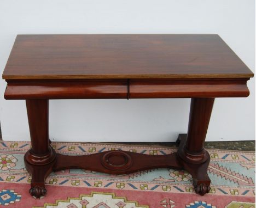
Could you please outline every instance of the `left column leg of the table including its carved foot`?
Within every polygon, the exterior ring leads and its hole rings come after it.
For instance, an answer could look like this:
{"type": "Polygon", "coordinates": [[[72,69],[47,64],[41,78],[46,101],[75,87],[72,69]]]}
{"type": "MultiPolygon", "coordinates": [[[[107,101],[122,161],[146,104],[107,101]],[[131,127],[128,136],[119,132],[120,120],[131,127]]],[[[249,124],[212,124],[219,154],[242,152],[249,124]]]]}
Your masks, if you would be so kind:
{"type": "Polygon", "coordinates": [[[24,156],[25,166],[32,176],[30,193],[40,198],[46,194],[44,181],[53,170],[56,153],[49,145],[48,100],[26,100],[31,149],[24,156]]]}

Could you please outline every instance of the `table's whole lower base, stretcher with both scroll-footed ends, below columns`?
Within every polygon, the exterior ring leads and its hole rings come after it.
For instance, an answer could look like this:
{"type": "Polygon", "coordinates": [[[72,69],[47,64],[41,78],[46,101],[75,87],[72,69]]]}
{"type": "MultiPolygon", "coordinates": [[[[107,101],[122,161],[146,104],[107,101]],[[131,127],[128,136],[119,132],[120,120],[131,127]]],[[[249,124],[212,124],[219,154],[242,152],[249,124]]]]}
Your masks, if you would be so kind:
{"type": "MultiPolygon", "coordinates": [[[[31,151],[25,156],[26,169],[32,175],[30,194],[33,197],[40,198],[46,194],[44,181],[53,171],[59,171],[68,168],[80,168],[94,170],[96,172],[108,174],[128,174],[141,170],[152,168],[173,168],[185,169],[193,177],[195,192],[201,195],[210,191],[210,182],[207,175],[207,167],[210,162],[210,156],[206,155],[202,163],[183,160],[179,155],[184,151],[184,145],[187,140],[187,134],[179,134],[178,152],[168,155],[143,155],[129,151],[106,151],[91,155],[70,156],[56,154],[54,149],[49,151],[49,160],[45,163],[38,163],[30,158],[35,158],[31,151]],[[178,153],[178,154],[177,154],[178,153]]],[[[44,156],[45,158],[45,156],[44,156]]]]}

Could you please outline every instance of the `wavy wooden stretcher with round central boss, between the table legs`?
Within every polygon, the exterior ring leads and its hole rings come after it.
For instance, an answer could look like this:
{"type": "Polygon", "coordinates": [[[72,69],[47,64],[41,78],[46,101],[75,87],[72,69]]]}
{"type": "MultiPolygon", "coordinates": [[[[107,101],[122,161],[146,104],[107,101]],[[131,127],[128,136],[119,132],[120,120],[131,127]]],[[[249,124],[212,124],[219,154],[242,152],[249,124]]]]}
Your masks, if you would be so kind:
{"type": "Polygon", "coordinates": [[[182,166],[177,161],[176,153],[143,155],[135,152],[113,150],[82,156],[57,154],[57,161],[53,167],[54,171],[67,168],[80,168],[109,174],[127,174],[151,168],[181,169],[182,166]],[[108,160],[106,160],[106,157],[108,157],[108,160]]]}

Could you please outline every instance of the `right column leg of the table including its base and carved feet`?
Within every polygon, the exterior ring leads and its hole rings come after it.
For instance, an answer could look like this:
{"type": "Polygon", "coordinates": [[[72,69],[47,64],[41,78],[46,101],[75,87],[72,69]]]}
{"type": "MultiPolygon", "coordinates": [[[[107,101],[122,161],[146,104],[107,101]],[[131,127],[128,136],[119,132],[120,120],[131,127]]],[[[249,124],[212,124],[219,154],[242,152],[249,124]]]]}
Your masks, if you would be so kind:
{"type": "Polygon", "coordinates": [[[191,99],[187,138],[179,136],[178,156],[183,168],[193,176],[195,192],[201,195],[210,191],[211,180],[207,174],[210,155],[204,148],[214,98],[191,99]]]}

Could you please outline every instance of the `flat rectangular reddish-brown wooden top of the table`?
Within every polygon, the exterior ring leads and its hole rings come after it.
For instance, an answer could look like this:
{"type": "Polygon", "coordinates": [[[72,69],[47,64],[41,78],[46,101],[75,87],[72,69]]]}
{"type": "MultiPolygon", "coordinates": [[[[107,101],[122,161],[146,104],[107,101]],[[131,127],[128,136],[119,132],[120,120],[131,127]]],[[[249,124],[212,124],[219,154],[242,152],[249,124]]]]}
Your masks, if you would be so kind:
{"type": "Polygon", "coordinates": [[[18,35],[4,79],[249,78],[218,35],[18,35]]]}

